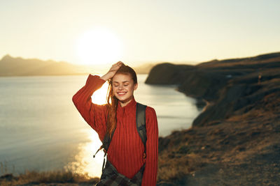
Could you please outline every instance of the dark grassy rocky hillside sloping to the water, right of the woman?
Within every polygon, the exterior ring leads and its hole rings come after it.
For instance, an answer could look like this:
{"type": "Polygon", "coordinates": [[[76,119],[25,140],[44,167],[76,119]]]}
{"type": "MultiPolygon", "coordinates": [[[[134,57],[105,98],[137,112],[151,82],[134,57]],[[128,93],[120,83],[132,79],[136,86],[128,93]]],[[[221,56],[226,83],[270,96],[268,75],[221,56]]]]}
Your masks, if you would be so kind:
{"type": "Polygon", "coordinates": [[[192,128],[160,138],[159,185],[279,184],[280,53],[162,63],[146,83],[206,103],[192,128]]]}

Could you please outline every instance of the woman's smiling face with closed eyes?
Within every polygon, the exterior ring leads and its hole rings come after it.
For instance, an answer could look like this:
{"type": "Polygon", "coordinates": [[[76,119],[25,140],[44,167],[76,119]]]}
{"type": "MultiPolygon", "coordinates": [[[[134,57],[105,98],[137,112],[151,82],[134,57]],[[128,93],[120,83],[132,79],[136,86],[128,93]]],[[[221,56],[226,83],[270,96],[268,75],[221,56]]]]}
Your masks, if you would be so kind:
{"type": "Polygon", "coordinates": [[[128,103],[132,97],[134,90],[138,84],[134,84],[130,75],[116,74],[113,76],[113,95],[123,104],[128,103]]]}

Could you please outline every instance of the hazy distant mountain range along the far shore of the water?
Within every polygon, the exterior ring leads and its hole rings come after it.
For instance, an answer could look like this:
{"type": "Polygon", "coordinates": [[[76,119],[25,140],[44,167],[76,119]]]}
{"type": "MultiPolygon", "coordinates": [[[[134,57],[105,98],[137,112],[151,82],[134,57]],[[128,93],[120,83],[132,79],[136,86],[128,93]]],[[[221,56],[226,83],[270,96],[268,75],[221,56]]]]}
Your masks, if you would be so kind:
{"type": "MultiPolygon", "coordinates": [[[[144,63],[132,68],[137,74],[148,74],[156,63],[144,63]]],[[[42,61],[40,59],[14,58],[3,56],[0,61],[1,76],[33,76],[33,75],[88,75],[89,73],[104,71],[100,65],[74,65],[64,61],[42,61]]],[[[109,70],[109,69],[108,69],[109,70]]]]}

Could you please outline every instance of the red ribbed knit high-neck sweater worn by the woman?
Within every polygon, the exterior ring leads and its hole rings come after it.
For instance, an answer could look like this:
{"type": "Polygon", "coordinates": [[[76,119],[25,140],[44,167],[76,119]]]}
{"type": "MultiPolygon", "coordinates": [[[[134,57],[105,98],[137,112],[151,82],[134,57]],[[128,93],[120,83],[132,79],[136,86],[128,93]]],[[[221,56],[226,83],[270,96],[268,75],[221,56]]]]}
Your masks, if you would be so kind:
{"type": "MultiPolygon", "coordinates": [[[[99,135],[103,141],[106,132],[106,120],[108,111],[106,104],[92,103],[92,94],[101,88],[106,81],[98,75],[89,75],[85,86],[73,95],[73,103],[83,116],[85,121],[99,135]]],[[[136,104],[132,100],[117,109],[117,125],[113,139],[107,152],[108,160],[116,167],[119,173],[133,178],[144,164],[144,144],[139,137],[136,127],[136,104]]],[[[156,185],[158,173],[158,119],[155,109],[146,107],[146,166],[142,185],[156,185]]]]}

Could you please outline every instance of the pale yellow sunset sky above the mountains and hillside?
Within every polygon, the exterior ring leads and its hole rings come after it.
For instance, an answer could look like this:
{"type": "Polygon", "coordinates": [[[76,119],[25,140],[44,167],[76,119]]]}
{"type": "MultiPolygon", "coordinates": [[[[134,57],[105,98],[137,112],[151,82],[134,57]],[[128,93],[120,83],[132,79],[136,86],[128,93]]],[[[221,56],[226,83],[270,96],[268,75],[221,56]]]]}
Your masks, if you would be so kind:
{"type": "Polygon", "coordinates": [[[0,1],[0,59],[199,63],[280,52],[277,0],[0,1]]]}

